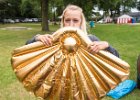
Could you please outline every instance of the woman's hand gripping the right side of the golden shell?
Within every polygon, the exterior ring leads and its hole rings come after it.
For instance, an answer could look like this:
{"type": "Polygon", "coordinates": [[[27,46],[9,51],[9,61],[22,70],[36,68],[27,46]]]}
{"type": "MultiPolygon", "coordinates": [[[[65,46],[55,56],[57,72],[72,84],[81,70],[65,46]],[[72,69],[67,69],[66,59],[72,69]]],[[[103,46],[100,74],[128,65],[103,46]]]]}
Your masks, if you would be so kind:
{"type": "Polygon", "coordinates": [[[106,41],[94,41],[88,46],[88,50],[91,53],[98,53],[100,50],[106,49],[108,47],[109,44],[106,41]]]}

